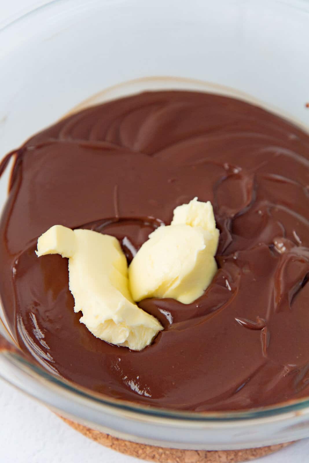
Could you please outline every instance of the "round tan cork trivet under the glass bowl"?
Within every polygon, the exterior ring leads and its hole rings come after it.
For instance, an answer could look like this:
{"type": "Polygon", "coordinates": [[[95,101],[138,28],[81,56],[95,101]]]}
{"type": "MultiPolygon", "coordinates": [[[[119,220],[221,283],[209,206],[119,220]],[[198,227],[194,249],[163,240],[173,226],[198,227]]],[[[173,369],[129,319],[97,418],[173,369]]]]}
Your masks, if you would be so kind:
{"type": "MultiPolygon", "coordinates": [[[[60,417],[62,418],[62,417],[60,417]]],[[[87,426],[80,425],[70,419],[62,418],[68,425],[84,436],[93,439],[99,444],[105,445],[112,450],[130,455],[131,457],[141,458],[150,462],[159,463],[239,463],[253,460],[254,458],[265,457],[276,452],[287,445],[269,445],[255,449],[245,450],[179,450],[155,447],[154,445],[136,444],[128,440],[118,439],[105,434],[104,432],[94,431],[87,426]]]]}

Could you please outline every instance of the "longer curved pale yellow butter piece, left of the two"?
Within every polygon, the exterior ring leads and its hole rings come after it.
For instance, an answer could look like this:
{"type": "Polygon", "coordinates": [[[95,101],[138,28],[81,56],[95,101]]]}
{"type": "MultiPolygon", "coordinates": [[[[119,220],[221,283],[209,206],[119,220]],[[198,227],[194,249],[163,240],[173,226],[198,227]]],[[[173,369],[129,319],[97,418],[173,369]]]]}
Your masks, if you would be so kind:
{"type": "Polygon", "coordinates": [[[134,304],[127,261],[118,240],[91,230],[54,225],[37,241],[37,256],[68,257],[69,289],[74,312],[97,338],[142,350],[162,326],[134,304]]]}

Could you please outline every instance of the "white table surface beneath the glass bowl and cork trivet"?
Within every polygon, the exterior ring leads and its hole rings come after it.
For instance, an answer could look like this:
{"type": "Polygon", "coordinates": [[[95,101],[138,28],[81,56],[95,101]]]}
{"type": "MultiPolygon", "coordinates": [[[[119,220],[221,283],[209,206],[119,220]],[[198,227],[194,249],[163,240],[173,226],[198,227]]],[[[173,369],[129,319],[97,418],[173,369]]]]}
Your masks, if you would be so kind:
{"type": "MultiPolygon", "coordinates": [[[[0,27],[46,0],[0,0],[0,27]]],[[[258,460],[254,460],[258,462],[258,460]]],[[[309,461],[309,439],[259,460],[309,461]]],[[[43,405],[0,380],[0,463],[138,463],[87,439],[43,405]]],[[[227,462],[229,463],[229,462],[227,462]]]]}

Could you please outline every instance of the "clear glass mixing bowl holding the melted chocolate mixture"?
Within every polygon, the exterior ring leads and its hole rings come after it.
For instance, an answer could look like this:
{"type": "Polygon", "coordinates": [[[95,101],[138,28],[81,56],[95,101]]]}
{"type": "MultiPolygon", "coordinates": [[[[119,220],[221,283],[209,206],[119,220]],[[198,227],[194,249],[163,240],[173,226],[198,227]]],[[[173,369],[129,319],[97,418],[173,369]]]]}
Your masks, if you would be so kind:
{"type": "MultiPolygon", "coordinates": [[[[51,1],[0,31],[1,153],[74,107],[143,89],[231,94],[308,127],[308,25],[307,0],[51,1]]],[[[93,429],[195,450],[309,436],[309,398],[235,413],[180,413],[96,395],[31,363],[2,309],[1,319],[0,375],[93,429]]]]}

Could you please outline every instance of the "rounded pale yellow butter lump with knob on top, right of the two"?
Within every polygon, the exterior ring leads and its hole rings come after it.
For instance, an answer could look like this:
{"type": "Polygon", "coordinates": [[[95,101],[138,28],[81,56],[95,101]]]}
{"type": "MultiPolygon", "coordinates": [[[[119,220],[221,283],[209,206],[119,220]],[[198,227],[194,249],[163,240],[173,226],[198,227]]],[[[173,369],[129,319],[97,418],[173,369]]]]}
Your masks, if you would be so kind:
{"type": "Polygon", "coordinates": [[[171,225],[151,233],[130,264],[133,299],[170,297],[184,304],[196,300],[217,271],[218,240],[209,201],[194,198],[176,207],[171,225]]]}

